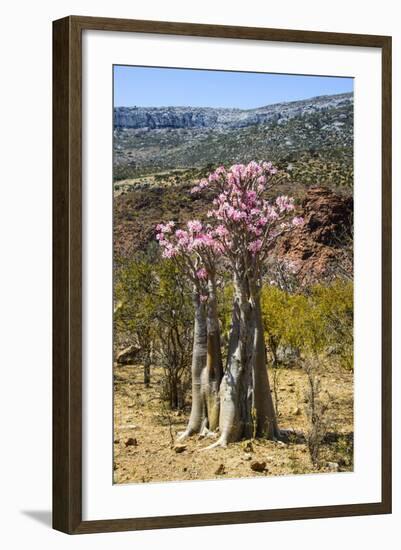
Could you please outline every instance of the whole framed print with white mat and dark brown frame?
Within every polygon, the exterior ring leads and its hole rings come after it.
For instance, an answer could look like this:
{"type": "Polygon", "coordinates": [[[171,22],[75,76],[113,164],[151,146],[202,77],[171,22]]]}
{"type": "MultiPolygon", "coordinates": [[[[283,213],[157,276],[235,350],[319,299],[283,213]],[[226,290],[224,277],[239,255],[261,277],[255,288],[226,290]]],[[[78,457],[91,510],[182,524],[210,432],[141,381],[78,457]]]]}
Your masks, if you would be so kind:
{"type": "Polygon", "coordinates": [[[391,512],[391,38],[53,24],[53,526],[391,512]]]}

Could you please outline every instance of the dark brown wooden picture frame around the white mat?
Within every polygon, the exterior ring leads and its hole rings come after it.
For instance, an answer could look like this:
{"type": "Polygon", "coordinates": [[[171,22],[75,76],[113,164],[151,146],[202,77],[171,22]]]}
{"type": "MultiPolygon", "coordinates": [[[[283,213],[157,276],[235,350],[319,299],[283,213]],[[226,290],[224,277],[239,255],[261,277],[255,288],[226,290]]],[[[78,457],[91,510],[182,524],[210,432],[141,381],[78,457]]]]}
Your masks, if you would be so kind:
{"type": "Polygon", "coordinates": [[[53,22],[53,527],[69,534],[391,513],[391,37],[71,16],[53,22]],[[82,520],[82,31],[379,48],[382,53],[382,496],[379,502],[82,520]]]}

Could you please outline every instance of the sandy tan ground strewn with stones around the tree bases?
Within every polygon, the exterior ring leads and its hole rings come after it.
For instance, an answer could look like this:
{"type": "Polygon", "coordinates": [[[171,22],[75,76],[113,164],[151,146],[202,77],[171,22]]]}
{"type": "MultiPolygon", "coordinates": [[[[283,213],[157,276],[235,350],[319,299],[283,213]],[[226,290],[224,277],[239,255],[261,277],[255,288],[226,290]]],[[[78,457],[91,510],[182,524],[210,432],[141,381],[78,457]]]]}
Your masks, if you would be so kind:
{"type": "MultiPolygon", "coordinates": [[[[305,433],[306,375],[301,369],[279,371],[280,427],[305,433]]],[[[332,400],[330,431],[318,468],[313,467],[301,437],[293,437],[288,443],[243,440],[226,449],[199,452],[213,440],[195,436],[177,452],[176,435],[186,426],[190,404],[183,412],[169,411],[159,397],[160,377],[160,371],[153,369],[151,386],[145,388],[141,366],[114,368],[115,483],[352,471],[352,373],[326,368],[321,375],[322,388],[330,392],[332,400]],[[266,463],[262,472],[252,469],[255,461],[266,463]]]]}

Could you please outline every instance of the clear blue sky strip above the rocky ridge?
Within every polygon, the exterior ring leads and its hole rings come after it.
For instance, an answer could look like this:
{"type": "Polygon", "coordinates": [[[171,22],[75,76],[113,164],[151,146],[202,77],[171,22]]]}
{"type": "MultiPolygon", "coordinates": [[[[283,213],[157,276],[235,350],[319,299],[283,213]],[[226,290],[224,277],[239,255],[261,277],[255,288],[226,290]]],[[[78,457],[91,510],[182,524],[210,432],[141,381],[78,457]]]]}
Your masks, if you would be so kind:
{"type": "Polygon", "coordinates": [[[352,78],[268,73],[114,67],[114,105],[140,107],[238,107],[353,90],[352,78]]]}

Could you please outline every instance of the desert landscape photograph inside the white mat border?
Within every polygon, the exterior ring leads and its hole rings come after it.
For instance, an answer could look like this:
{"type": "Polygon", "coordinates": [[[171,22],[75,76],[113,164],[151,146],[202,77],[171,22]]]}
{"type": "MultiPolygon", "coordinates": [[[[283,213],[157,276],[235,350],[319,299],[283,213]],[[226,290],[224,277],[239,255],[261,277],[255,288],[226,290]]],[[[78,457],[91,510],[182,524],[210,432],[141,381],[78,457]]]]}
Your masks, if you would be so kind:
{"type": "Polygon", "coordinates": [[[113,482],[353,471],[353,78],[113,67],[113,482]]]}

